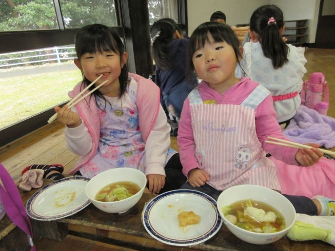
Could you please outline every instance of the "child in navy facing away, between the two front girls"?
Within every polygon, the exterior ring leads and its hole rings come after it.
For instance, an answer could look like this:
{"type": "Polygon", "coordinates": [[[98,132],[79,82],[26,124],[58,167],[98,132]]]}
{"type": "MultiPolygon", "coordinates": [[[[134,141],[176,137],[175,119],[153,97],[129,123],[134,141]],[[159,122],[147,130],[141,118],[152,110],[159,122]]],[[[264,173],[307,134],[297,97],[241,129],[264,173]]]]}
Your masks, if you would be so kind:
{"type": "Polygon", "coordinates": [[[155,83],[161,89],[161,104],[168,118],[178,122],[184,100],[198,85],[194,75],[190,78],[193,86],[186,78],[188,38],[171,18],[154,22],[150,33],[151,52],[156,64],[155,83]]]}

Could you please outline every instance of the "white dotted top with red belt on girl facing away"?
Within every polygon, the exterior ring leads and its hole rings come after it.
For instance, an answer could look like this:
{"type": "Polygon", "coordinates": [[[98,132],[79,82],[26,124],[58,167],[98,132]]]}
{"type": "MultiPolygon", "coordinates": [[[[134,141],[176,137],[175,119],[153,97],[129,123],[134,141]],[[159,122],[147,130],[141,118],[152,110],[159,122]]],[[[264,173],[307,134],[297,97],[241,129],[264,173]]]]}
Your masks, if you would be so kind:
{"type": "Polygon", "coordinates": [[[267,88],[272,96],[278,96],[274,101],[274,109],[277,112],[277,121],[283,122],[295,115],[301,98],[302,77],[306,73],[304,65],[307,60],[304,56],[305,48],[289,47],[289,61],[282,68],[274,69],[270,58],[264,56],[261,44],[246,43],[244,45],[242,68],[246,76],[257,81],[267,88]],[[291,97],[293,96],[293,97],[291,97]]]}

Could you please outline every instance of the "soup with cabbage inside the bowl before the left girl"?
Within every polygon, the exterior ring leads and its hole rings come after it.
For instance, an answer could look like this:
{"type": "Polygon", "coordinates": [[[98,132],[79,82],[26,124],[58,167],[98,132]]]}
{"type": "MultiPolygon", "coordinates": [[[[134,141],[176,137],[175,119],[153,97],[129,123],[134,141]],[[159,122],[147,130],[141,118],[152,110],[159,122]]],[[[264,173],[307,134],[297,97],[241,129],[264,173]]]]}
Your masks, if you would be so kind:
{"type": "Polygon", "coordinates": [[[104,186],[94,199],[103,202],[120,201],[133,196],[140,190],[141,187],[134,182],[119,181],[104,186]]]}

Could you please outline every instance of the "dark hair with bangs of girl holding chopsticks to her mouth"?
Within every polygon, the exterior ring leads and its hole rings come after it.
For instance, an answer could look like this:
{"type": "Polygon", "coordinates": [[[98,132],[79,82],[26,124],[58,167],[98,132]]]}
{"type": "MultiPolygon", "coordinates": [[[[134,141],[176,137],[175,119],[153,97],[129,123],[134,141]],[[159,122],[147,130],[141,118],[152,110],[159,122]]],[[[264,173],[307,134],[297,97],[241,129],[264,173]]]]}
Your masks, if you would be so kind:
{"type": "MultiPolygon", "coordinates": [[[[120,55],[120,65],[121,65],[123,60],[122,55],[125,52],[125,49],[121,38],[117,35],[115,31],[112,30],[112,28],[101,24],[93,24],[84,26],[83,28],[78,30],[78,32],[75,35],[75,51],[78,60],[80,60],[85,53],[96,53],[96,52],[103,53],[112,51],[120,55]]],[[[119,98],[121,98],[122,95],[126,92],[128,85],[128,68],[126,64],[121,69],[119,81],[120,81],[119,98]]],[[[88,86],[90,85],[90,83],[91,81],[88,80],[83,73],[82,85],[88,86]]],[[[94,88],[95,87],[93,85],[89,89],[93,90],[94,88]]],[[[107,100],[99,90],[94,91],[92,95],[94,95],[95,100],[96,98],[101,98],[105,100],[105,108],[106,108],[107,100]]],[[[101,110],[105,109],[105,108],[102,109],[101,107],[99,108],[101,110]]]]}

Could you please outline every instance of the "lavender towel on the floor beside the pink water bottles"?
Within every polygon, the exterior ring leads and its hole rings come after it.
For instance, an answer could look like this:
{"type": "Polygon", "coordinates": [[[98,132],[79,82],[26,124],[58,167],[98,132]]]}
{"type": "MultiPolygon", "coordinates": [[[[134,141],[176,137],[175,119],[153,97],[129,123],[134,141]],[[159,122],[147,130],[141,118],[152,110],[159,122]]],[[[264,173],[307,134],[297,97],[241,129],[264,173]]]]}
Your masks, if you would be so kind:
{"type": "Polygon", "coordinates": [[[300,106],[283,131],[288,139],[304,143],[318,143],[320,147],[335,147],[335,119],[313,109],[300,106]]]}

